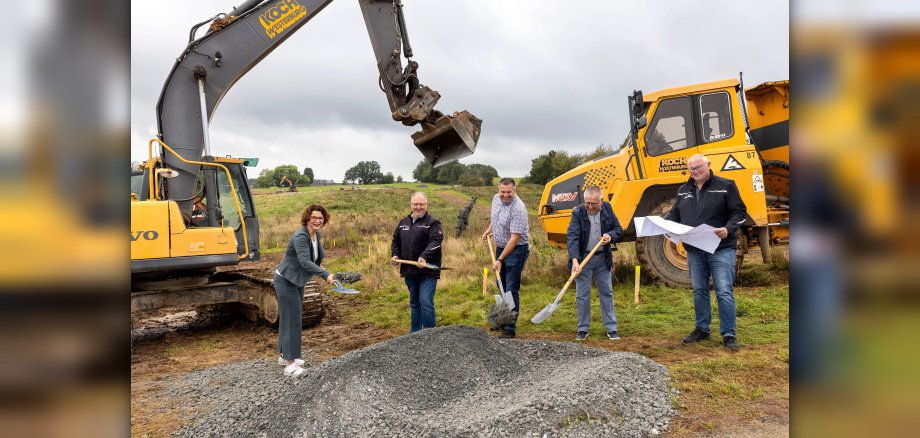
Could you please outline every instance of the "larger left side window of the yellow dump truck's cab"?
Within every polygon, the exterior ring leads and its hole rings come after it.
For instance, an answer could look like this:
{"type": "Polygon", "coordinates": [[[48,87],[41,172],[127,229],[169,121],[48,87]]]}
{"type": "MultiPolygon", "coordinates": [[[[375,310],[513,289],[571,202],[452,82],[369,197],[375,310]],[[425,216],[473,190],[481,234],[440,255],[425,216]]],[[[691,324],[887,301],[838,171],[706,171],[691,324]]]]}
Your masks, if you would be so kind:
{"type": "Polygon", "coordinates": [[[692,119],[690,98],[678,97],[661,101],[652,123],[645,131],[645,147],[648,154],[661,155],[696,146],[692,119]]]}

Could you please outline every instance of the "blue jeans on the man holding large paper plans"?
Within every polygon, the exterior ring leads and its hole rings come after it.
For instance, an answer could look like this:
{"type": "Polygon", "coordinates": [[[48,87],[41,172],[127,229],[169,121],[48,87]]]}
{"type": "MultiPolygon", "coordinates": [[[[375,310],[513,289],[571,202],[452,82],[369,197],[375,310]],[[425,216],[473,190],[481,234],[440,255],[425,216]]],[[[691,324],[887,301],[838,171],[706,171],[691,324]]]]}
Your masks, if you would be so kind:
{"type": "Polygon", "coordinates": [[[696,328],[709,333],[712,322],[712,302],[709,295],[709,278],[716,289],[719,306],[719,332],[722,337],[735,336],[735,248],[723,248],[709,254],[697,249],[687,250],[690,282],[693,284],[693,308],[696,310],[696,328]]]}

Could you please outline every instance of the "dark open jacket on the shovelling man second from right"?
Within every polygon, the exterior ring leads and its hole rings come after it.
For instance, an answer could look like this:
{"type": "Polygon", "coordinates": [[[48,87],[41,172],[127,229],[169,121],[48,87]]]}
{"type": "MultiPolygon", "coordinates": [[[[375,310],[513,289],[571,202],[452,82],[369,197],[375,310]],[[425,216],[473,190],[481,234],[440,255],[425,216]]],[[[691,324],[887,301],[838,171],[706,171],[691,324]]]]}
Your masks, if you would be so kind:
{"type": "MultiPolygon", "coordinates": [[[[623,237],[623,227],[617,215],[613,213],[613,208],[607,201],[601,202],[601,236],[610,235],[610,243],[601,245],[594,253],[593,257],[604,257],[607,268],[613,268],[613,254],[611,248],[613,244],[623,237]]],[[[569,270],[572,269],[572,259],[578,259],[581,263],[588,256],[593,248],[588,248],[588,239],[591,238],[591,221],[588,220],[588,211],[585,210],[584,204],[572,209],[572,219],[569,220],[569,228],[566,231],[566,248],[569,253],[569,270]]],[[[593,258],[592,257],[592,258],[593,258]]]]}

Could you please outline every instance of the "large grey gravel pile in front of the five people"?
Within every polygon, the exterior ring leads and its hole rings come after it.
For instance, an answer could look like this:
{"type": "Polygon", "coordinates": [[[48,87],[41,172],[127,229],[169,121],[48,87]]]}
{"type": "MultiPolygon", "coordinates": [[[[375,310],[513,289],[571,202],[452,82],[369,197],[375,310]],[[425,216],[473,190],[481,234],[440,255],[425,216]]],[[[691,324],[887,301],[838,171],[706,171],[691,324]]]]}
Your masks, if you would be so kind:
{"type": "Polygon", "coordinates": [[[309,365],[274,360],[166,384],[197,405],[181,436],[648,436],[674,413],[667,370],[634,353],[422,330],[309,365]]]}

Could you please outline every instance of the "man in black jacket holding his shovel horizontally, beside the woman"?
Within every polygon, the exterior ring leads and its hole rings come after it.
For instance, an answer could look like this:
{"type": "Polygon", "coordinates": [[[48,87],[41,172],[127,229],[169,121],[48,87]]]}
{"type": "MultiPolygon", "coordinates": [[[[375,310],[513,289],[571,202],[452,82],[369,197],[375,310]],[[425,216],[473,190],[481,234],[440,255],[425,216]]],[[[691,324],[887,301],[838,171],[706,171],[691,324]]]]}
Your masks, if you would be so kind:
{"type": "MultiPolygon", "coordinates": [[[[403,218],[393,232],[390,245],[396,265],[397,259],[418,261],[423,265],[441,265],[441,221],[428,214],[428,198],[416,192],[411,200],[412,213],[403,218]]],[[[409,308],[411,309],[410,332],[435,326],[434,291],[441,271],[402,264],[399,274],[409,287],[409,308]]]]}

